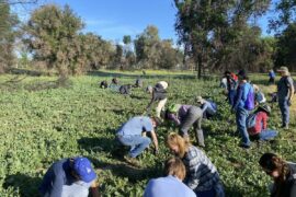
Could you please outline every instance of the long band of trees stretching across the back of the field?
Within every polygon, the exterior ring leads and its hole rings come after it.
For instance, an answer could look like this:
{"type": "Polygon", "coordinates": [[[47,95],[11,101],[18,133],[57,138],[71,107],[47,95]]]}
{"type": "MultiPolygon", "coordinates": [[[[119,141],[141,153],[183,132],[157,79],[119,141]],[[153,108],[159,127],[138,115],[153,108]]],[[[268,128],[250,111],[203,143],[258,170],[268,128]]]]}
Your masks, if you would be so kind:
{"type": "Polygon", "coordinates": [[[270,20],[270,31],[275,34],[265,37],[251,21],[271,8],[271,0],[173,2],[178,10],[178,45],[161,39],[153,25],[134,39],[125,35],[117,43],[82,33],[86,24],[69,5],[42,5],[23,24],[11,12],[13,1],[0,0],[0,72],[16,65],[60,76],[100,68],[191,69],[198,77],[212,70],[242,67],[255,72],[280,66],[296,70],[295,1],[275,3],[277,16],[270,20]]]}

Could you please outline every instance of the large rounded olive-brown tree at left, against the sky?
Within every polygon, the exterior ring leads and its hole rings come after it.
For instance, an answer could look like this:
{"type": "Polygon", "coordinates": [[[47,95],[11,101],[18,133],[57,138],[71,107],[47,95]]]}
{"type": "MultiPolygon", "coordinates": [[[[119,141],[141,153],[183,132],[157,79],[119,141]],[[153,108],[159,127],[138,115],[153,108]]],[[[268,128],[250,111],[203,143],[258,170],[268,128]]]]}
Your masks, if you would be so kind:
{"type": "Polygon", "coordinates": [[[78,32],[83,23],[72,10],[47,4],[35,10],[25,26],[30,50],[35,60],[44,62],[48,69],[56,69],[60,76],[81,70],[77,61],[80,48],[78,32]]]}

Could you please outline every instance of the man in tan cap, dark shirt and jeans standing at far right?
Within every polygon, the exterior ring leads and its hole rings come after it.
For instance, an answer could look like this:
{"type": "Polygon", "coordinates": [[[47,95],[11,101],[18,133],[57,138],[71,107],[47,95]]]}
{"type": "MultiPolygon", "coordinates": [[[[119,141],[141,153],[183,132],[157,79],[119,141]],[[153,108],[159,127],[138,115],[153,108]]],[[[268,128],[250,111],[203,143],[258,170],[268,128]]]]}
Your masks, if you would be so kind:
{"type": "Polygon", "coordinates": [[[277,72],[281,79],[277,83],[277,101],[282,113],[282,128],[288,129],[289,124],[289,106],[294,95],[294,82],[291,78],[287,67],[281,67],[277,72]]]}

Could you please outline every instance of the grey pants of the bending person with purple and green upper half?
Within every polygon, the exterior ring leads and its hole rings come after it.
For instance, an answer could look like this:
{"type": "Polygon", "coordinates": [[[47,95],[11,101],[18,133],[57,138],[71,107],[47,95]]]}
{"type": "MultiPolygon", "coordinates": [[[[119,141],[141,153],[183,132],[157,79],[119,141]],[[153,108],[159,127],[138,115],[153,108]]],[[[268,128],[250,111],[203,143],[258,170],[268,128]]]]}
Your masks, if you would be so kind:
{"type": "Polygon", "coordinates": [[[184,138],[189,138],[189,129],[194,126],[194,132],[200,146],[204,147],[204,134],[202,130],[203,111],[200,107],[189,108],[186,117],[181,123],[180,132],[184,138]]]}

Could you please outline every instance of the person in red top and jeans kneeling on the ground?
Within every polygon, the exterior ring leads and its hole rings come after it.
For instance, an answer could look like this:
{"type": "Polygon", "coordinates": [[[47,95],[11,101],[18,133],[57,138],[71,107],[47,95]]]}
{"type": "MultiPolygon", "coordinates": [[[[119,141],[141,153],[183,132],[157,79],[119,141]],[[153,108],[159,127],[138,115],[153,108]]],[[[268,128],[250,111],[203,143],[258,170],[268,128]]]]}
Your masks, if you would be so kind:
{"type": "Polygon", "coordinates": [[[271,114],[269,105],[259,106],[258,109],[247,118],[248,132],[259,140],[270,140],[277,136],[277,131],[267,129],[267,119],[271,114]]]}

